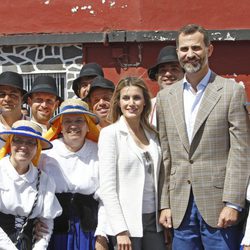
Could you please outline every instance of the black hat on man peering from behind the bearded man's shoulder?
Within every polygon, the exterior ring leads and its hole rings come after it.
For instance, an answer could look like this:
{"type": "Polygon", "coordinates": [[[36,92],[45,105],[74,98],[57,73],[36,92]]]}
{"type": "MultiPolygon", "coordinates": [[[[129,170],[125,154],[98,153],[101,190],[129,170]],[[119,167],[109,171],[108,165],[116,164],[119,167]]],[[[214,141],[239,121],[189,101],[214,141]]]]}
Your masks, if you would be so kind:
{"type": "Polygon", "coordinates": [[[151,80],[156,80],[158,67],[162,63],[179,62],[175,46],[166,46],[160,50],[156,64],[148,69],[148,76],[151,80]]]}

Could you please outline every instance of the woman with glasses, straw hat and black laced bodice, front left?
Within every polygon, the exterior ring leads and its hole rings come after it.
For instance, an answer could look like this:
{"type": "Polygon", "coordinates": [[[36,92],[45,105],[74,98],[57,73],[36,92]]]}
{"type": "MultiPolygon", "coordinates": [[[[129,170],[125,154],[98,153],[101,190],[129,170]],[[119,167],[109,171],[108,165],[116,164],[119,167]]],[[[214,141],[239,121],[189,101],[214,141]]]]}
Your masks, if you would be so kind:
{"type": "Polygon", "coordinates": [[[1,139],[5,140],[0,150],[1,249],[47,249],[53,219],[62,212],[55,198],[54,182],[36,168],[41,150],[52,147],[41,136],[41,131],[31,121],[20,120],[13,124],[11,130],[0,133],[1,139]],[[32,246],[35,219],[46,223],[48,230],[32,246]]]}

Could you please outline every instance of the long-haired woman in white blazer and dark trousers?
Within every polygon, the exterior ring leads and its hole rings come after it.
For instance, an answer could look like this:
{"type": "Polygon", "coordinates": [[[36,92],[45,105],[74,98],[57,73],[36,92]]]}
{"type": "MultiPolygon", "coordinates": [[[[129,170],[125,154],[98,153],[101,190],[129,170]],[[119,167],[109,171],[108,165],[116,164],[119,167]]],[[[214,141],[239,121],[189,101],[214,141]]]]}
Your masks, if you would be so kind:
{"type": "Polygon", "coordinates": [[[142,79],[122,79],[114,92],[110,118],[98,143],[100,196],[105,233],[118,249],[165,249],[158,224],[161,151],[150,127],[148,89],[142,79]]]}

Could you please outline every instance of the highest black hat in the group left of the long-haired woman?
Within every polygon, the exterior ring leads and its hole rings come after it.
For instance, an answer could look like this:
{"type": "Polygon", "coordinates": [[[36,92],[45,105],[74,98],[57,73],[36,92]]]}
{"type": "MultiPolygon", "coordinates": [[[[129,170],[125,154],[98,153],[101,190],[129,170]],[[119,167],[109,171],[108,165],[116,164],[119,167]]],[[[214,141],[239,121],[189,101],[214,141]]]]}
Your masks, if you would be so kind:
{"type": "Polygon", "coordinates": [[[102,67],[97,63],[87,63],[83,65],[80,71],[79,77],[73,81],[73,85],[72,85],[72,89],[74,90],[77,96],[79,96],[78,82],[84,76],[102,76],[103,77],[104,73],[103,73],[102,67]]]}

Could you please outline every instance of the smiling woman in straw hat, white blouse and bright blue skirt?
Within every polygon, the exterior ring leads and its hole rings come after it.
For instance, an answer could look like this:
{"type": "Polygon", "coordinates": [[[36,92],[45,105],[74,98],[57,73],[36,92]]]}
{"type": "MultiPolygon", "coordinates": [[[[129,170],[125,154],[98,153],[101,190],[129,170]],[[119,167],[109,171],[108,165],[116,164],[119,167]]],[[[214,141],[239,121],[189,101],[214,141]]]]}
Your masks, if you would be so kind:
{"type": "Polygon", "coordinates": [[[53,149],[44,155],[41,168],[56,183],[63,214],[55,220],[48,249],[98,249],[94,236],[98,202],[93,198],[99,186],[98,121],[80,99],[62,102],[60,112],[50,120],[51,129],[45,137],[56,139],[53,149]]]}

